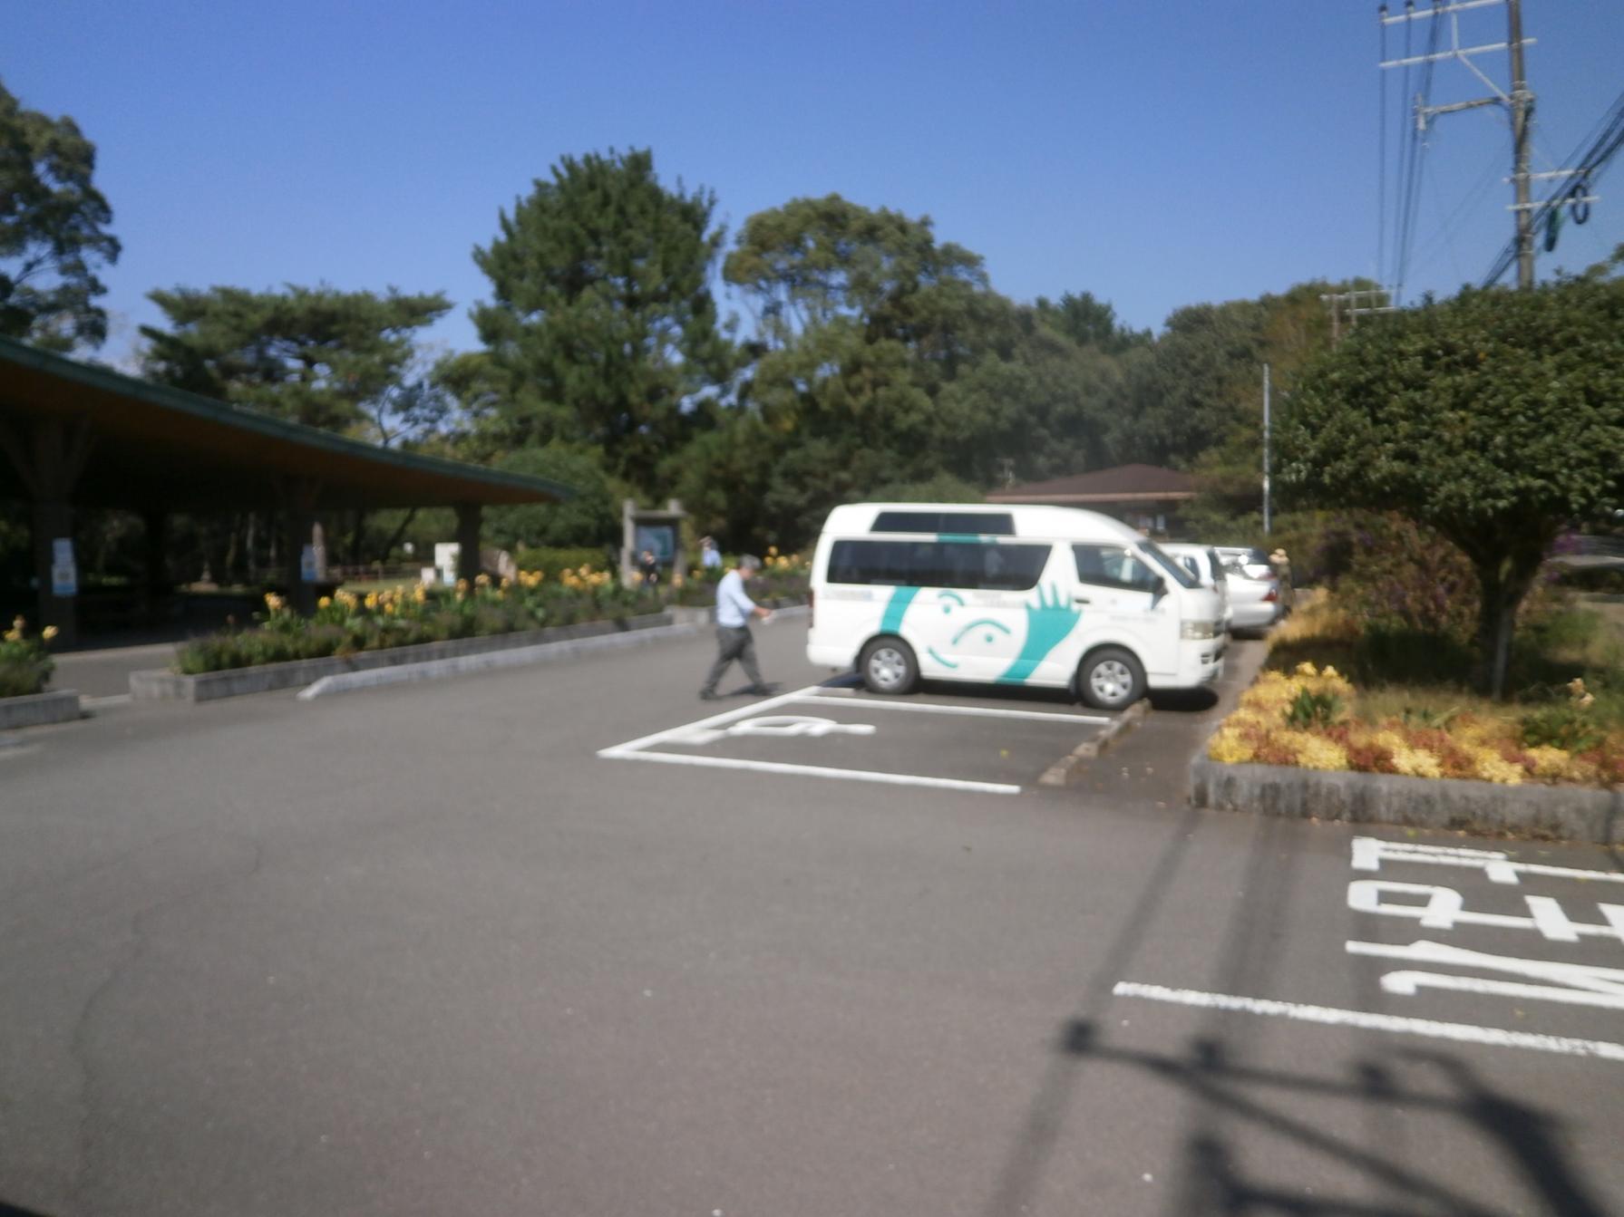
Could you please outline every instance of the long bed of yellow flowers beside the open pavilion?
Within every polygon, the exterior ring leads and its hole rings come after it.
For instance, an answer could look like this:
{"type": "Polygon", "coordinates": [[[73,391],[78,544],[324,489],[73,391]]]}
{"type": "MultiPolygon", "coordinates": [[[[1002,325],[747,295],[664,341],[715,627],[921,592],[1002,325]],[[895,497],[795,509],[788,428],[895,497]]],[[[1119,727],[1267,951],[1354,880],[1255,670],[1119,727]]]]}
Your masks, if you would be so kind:
{"type": "Polygon", "coordinates": [[[479,576],[456,587],[391,587],[365,596],[339,591],[323,597],[313,615],[296,613],[276,596],[250,630],[227,630],[185,644],[174,670],[182,675],[222,672],[294,659],[328,659],[422,643],[604,621],[658,612],[653,594],[622,587],[607,571],[590,566],[549,579],[521,571],[492,583],[479,576]]]}

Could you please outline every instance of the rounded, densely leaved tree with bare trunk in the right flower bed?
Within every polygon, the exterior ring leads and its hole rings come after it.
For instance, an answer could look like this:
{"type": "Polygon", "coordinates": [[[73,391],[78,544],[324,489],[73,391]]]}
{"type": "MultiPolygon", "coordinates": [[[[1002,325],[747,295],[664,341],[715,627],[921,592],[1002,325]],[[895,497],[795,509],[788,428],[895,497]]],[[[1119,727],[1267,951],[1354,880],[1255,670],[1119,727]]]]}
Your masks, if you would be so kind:
{"type": "Polygon", "coordinates": [[[1606,273],[1466,290],[1361,325],[1285,406],[1285,488],[1398,511],[1471,561],[1494,696],[1551,542],[1624,506],[1621,333],[1624,279],[1606,273]]]}

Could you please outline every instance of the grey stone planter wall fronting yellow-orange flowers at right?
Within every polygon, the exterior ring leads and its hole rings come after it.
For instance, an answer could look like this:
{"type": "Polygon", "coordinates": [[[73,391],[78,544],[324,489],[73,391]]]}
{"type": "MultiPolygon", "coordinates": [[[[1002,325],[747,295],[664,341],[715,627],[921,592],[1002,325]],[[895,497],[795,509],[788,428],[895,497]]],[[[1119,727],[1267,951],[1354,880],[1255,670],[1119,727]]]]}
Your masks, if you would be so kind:
{"type": "Polygon", "coordinates": [[[1624,792],[1570,785],[1322,772],[1223,764],[1197,756],[1190,763],[1190,803],[1353,824],[1510,832],[1596,844],[1624,839],[1624,792]]]}

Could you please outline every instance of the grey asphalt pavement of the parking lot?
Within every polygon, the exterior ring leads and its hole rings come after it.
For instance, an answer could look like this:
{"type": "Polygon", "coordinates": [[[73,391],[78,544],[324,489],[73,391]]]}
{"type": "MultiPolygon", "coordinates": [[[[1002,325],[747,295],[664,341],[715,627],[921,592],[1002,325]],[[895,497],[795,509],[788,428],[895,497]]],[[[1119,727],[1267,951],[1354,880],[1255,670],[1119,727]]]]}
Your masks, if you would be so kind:
{"type": "Polygon", "coordinates": [[[1190,810],[1200,698],[1041,787],[1098,716],[802,644],[21,733],[0,1214],[1624,1212],[1608,852],[1190,810]]]}

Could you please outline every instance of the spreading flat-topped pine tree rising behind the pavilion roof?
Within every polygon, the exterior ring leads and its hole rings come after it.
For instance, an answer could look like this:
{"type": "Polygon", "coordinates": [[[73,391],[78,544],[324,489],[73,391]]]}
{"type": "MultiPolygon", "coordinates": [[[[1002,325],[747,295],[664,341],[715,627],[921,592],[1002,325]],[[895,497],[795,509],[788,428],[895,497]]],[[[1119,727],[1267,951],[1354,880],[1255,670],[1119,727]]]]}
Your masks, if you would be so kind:
{"type": "Polygon", "coordinates": [[[374,441],[443,411],[414,370],[416,334],[451,307],[438,292],[286,286],[151,292],[171,329],[141,326],[151,380],[374,441]]]}

